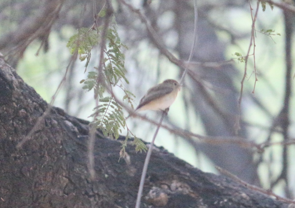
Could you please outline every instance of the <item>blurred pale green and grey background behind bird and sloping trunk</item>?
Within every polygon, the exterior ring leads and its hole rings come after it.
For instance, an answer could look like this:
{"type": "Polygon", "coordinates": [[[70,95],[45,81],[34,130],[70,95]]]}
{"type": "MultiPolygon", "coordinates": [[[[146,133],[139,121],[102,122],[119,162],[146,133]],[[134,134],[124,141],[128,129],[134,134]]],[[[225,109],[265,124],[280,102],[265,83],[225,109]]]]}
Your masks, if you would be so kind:
{"type": "MultiPolygon", "coordinates": [[[[105,2],[95,2],[98,13],[105,2]]],[[[194,37],[193,1],[128,2],[134,8],[141,9],[168,51],[179,60],[188,59],[194,37]]],[[[197,1],[197,44],[181,93],[164,121],[173,128],[211,136],[219,140],[218,144],[178,137],[160,129],[156,145],[164,146],[203,171],[217,173],[214,165],[218,165],[248,183],[293,199],[295,13],[276,4],[271,9],[266,3],[264,12],[259,4],[255,22],[255,64],[252,47],[243,84],[241,129],[238,135],[235,134],[245,62],[238,61],[234,54],[247,55],[252,30],[250,5],[255,12],[256,2],[197,1]],[[271,34],[267,30],[271,30],[271,34]],[[286,58],[288,56],[289,59],[286,58]],[[254,66],[258,81],[255,93],[252,93],[254,66]],[[222,142],[236,136],[249,145],[222,142]]],[[[294,9],[294,1],[275,2],[288,3],[294,9]]],[[[117,36],[119,44],[128,48],[120,48],[124,54],[124,60],[121,59],[124,66],[119,66],[123,67],[121,70],[126,70],[126,74],[121,76],[121,80],[112,80],[112,89],[121,98],[126,95],[126,90],[131,97],[132,94],[136,95],[134,101],[130,100],[136,106],[149,87],[165,79],[179,79],[183,69],[168,60],[134,11],[120,0],[112,1],[112,6],[114,14],[110,32],[113,30],[114,33],[110,34],[117,36]]],[[[93,1],[0,0],[0,51],[6,60],[47,102],[51,101],[68,66],[66,79],[54,105],[73,116],[88,120],[93,119],[89,116],[94,113],[96,101],[93,91],[88,92],[83,87],[85,83],[80,82],[89,79],[89,72],[94,77],[97,75],[100,39],[91,48],[89,63],[88,51],[80,59],[77,55],[71,61],[75,50],[71,51],[67,44],[79,31],[84,30],[82,32],[85,33],[91,29],[94,24],[93,11],[93,1]]],[[[97,18],[98,27],[104,22],[104,15],[97,18]]],[[[91,32],[98,34],[96,30],[91,32]]],[[[106,47],[112,48],[109,45],[106,47]]],[[[101,92],[101,95],[108,98],[107,93],[101,92]]],[[[113,105],[117,108],[116,104],[113,105]]],[[[124,115],[120,115],[120,118],[128,115],[124,109],[122,112],[124,115]]],[[[144,114],[155,120],[158,118],[155,112],[144,114]]],[[[124,119],[120,121],[125,122],[124,119]]],[[[127,126],[134,135],[145,141],[150,141],[155,130],[155,126],[137,118],[127,120],[127,126]]],[[[121,128],[121,134],[126,135],[128,129],[121,128]]]]}

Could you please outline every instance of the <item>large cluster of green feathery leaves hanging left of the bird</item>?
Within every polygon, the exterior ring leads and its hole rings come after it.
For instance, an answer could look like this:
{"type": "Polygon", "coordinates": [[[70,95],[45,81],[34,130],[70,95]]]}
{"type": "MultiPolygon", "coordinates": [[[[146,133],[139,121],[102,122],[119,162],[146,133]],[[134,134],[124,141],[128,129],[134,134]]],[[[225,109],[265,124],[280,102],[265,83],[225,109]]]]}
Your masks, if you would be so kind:
{"type": "MultiPolygon", "coordinates": [[[[104,15],[105,8],[103,8],[97,16],[104,17],[104,15]]],[[[91,50],[99,45],[101,33],[104,28],[103,26],[100,26],[96,27],[95,30],[96,31],[81,28],[78,30],[77,34],[69,39],[67,44],[67,47],[70,48],[72,54],[78,52],[79,59],[81,61],[86,60],[86,69],[90,62],[91,50]]],[[[93,89],[94,98],[99,100],[99,105],[94,108],[94,113],[91,115],[91,117],[94,117],[92,124],[100,129],[105,136],[117,139],[119,137],[119,132],[122,133],[121,128],[127,126],[122,106],[115,102],[112,97],[113,95],[110,95],[107,92],[106,86],[110,86],[111,90],[114,87],[122,89],[124,91],[122,100],[125,103],[130,104],[132,108],[132,102],[135,95],[123,87],[122,80],[129,84],[129,81],[125,77],[127,71],[124,67],[125,56],[122,53],[122,49],[127,47],[121,43],[114,18],[112,18],[112,23],[106,31],[106,45],[107,46],[103,51],[104,59],[102,64],[102,76],[100,74],[99,77],[98,69],[94,67],[96,70],[89,71],[87,79],[82,79],[80,83],[84,83],[83,89],[88,91],[93,89]],[[106,94],[108,95],[106,96],[106,94]]],[[[124,155],[127,139],[130,138],[129,135],[132,134],[128,128],[127,131],[128,133],[120,152],[121,156],[124,155]]],[[[140,139],[137,139],[134,134],[132,134],[132,136],[135,138],[133,141],[133,144],[136,146],[135,149],[137,151],[146,150],[145,144],[143,144],[140,139]]]]}

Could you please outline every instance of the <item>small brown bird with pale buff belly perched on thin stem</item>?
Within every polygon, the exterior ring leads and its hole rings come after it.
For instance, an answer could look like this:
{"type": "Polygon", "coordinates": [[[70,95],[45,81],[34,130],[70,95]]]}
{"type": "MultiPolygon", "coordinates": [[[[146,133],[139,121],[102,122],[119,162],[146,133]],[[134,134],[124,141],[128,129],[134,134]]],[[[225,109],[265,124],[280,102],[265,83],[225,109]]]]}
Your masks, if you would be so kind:
{"type": "Polygon", "coordinates": [[[166,79],[161,84],[148,90],[148,92],[141,98],[135,111],[164,111],[174,102],[179,91],[180,84],[176,80],[166,79]]]}

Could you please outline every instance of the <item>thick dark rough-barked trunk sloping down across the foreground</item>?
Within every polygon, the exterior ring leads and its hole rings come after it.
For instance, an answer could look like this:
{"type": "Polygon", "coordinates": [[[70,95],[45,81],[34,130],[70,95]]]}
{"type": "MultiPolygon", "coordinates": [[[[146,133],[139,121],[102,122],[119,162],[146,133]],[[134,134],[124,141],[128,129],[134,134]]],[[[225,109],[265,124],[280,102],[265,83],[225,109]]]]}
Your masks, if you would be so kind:
{"type": "MultiPolygon", "coordinates": [[[[89,122],[62,109],[52,107],[32,138],[16,148],[46,108],[0,58],[0,207],[134,207],[145,154],[129,145],[129,156],[118,161],[124,137],[115,141],[97,132],[93,181],[87,168],[89,122]]],[[[156,147],[143,195],[141,207],[289,205],[230,178],[204,173],[156,147]]]]}

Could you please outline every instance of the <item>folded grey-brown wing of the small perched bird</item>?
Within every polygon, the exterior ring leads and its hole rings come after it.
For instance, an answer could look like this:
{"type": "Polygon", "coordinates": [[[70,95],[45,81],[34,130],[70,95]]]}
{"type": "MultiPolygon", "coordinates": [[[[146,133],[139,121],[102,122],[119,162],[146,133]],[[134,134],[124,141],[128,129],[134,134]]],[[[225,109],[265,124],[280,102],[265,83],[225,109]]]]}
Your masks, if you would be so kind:
{"type": "Polygon", "coordinates": [[[139,105],[137,106],[137,109],[141,108],[142,106],[148,104],[152,100],[155,100],[157,98],[163,97],[164,95],[167,95],[173,91],[172,87],[163,87],[156,85],[155,87],[152,87],[150,90],[148,90],[147,94],[143,96],[140,99],[139,105]]]}

